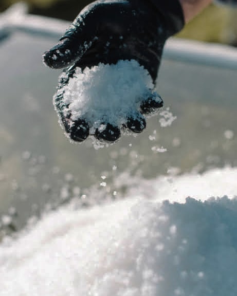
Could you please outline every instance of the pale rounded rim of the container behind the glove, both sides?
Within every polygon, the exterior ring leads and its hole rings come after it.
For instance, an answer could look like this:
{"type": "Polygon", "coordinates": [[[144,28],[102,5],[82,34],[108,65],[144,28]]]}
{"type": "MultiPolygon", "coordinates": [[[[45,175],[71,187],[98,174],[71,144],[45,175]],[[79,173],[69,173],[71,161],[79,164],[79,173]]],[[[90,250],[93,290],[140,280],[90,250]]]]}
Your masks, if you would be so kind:
{"type": "MultiPolygon", "coordinates": [[[[58,39],[69,24],[57,18],[28,14],[27,4],[20,2],[0,14],[0,38],[15,31],[23,31],[58,39]]],[[[215,43],[170,38],[163,50],[163,58],[183,63],[237,69],[237,49],[215,43]]]]}

